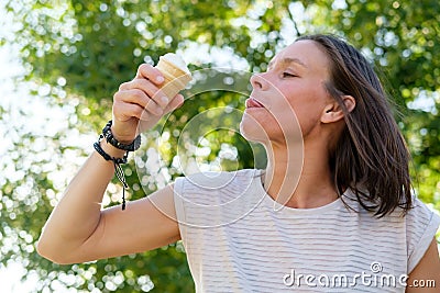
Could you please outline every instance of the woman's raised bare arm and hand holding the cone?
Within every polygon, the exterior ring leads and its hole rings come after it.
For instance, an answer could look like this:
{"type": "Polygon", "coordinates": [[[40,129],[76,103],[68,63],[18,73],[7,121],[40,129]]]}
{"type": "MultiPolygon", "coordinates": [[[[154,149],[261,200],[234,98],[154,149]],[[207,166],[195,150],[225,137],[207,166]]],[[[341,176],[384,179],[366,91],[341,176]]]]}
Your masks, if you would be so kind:
{"type": "MultiPolygon", "coordinates": [[[[163,99],[157,88],[162,81],[157,69],[142,65],[136,77],[120,87],[114,94],[112,125],[118,140],[132,142],[139,131],[151,128],[163,114],[183,103],[180,94],[170,101],[163,99]]],[[[112,157],[124,154],[105,139],[100,144],[112,157]]],[[[96,151],[90,155],[43,228],[40,255],[58,263],[84,262],[154,249],[179,239],[172,185],[129,203],[125,211],[120,206],[102,211],[102,196],[113,173],[111,161],[96,151]]]]}

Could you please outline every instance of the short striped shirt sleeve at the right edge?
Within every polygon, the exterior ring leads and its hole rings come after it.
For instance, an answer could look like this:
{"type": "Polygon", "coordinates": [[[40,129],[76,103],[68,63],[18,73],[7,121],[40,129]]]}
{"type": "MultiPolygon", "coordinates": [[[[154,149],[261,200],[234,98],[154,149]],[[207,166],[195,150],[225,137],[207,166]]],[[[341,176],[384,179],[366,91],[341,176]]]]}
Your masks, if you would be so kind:
{"type": "Polygon", "coordinates": [[[408,274],[416,268],[429,245],[436,237],[440,216],[418,199],[406,215],[406,237],[408,249],[408,274]]]}

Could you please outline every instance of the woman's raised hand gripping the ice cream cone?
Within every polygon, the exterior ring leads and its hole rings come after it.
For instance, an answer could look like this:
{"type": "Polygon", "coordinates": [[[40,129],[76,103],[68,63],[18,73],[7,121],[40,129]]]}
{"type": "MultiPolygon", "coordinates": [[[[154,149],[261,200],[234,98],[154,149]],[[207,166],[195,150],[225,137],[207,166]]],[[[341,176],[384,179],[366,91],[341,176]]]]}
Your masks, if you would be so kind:
{"type": "Polygon", "coordinates": [[[130,144],[138,134],[151,129],[163,115],[179,108],[184,97],[166,97],[160,89],[164,77],[158,69],[142,64],[135,78],[119,87],[113,95],[111,132],[121,143],[130,144]]]}

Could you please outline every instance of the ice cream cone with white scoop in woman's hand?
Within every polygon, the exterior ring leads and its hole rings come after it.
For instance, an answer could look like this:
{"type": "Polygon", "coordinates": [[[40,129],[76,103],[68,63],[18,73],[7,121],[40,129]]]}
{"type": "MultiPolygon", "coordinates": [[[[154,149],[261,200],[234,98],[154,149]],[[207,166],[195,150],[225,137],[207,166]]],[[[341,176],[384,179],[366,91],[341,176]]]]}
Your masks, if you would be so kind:
{"type": "Polygon", "coordinates": [[[161,89],[169,99],[185,89],[193,79],[185,61],[175,54],[168,53],[160,57],[156,68],[164,75],[165,81],[161,89]]]}

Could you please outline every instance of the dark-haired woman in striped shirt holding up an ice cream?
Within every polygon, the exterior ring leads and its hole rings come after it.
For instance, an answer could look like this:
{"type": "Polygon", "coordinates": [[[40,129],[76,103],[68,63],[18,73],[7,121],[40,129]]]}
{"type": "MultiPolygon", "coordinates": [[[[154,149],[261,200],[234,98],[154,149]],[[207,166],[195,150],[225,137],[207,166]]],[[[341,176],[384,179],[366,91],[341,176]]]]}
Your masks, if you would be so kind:
{"type": "MultiPolygon", "coordinates": [[[[110,131],[122,145],[183,103],[161,99],[162,82],[142,65],[114,94],[110,131]]],[[[73,263],[183,239],[198,292],[437,292],[416,283],[440,285],[440,219],[410,194],[409,155],[365,58],[333,36],[306,36],[251,83],[241,132],[266,148],[264,171],[180,178],[127,211],[101,211],[114,171],[103,157],[125,154],[101,139],[38,252],[73,263]]]]}

